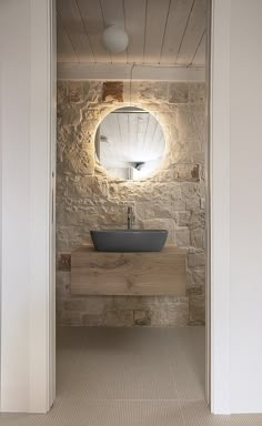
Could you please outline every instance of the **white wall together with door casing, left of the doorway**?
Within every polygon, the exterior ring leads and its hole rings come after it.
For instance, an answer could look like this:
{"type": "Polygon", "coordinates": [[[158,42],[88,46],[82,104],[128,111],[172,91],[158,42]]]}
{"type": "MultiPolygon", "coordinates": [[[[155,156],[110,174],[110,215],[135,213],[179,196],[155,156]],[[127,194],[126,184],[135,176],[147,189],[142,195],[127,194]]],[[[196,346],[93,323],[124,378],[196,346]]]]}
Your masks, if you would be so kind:
{"type": "Polygon", "coordinates": [[[1,410],[46,412],[50,1],[1,0],[1,410]]]}

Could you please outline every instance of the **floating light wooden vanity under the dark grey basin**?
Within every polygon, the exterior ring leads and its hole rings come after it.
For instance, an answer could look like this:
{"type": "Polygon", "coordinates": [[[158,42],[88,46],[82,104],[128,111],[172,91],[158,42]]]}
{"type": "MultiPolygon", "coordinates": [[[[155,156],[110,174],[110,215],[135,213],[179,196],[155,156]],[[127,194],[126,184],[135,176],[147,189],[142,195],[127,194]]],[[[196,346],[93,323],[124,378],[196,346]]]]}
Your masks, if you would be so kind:
{"type": "Polygon", "coordinates": [[[185,295],[185,250],[98,252],[92,246],[71,255],[71,293],[78,295],[185,295]]]}

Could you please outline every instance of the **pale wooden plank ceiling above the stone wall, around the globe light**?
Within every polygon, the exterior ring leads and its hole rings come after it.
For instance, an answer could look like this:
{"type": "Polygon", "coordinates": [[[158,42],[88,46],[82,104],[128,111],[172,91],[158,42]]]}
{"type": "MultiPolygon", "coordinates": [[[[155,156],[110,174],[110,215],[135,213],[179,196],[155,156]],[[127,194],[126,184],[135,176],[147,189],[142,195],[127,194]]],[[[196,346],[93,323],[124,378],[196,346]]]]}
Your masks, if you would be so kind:
{"type": "Polygon", "coordinates": [[[57,0],[58,62],[203,67],[209,0],[57,0]],[[105,27],[125,29],[127,51],[102,47],[105,27]]]}

